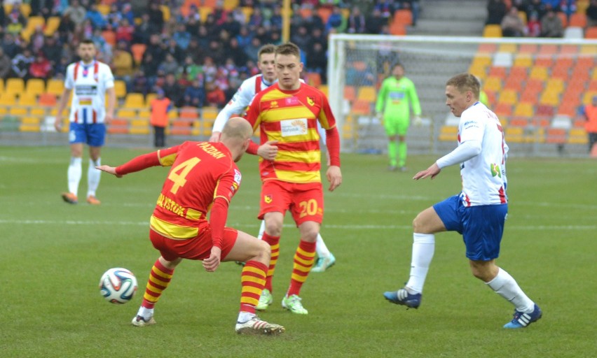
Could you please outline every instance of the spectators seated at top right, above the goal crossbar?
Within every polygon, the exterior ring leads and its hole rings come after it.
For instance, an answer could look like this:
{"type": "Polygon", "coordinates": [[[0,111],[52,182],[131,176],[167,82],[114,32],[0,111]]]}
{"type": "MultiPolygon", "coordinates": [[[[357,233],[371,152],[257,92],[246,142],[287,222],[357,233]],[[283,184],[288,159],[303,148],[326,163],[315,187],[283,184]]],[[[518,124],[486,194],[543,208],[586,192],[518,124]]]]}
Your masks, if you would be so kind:
{"type": "MultiPolygon", "coordinates": [[[[576,0],[511,0],[511,7],[505,0],[488,0],[486,24],[502,27],[506,37],[547,37],[564,35],[564,23],[558,14],[566,19],[577,11],[576,0]],[[519,16],[523,13],[526,23],[519,16]]],[[[597,24],[597,0],[591,0],[586,8],[587,27],[597,24]]]]}

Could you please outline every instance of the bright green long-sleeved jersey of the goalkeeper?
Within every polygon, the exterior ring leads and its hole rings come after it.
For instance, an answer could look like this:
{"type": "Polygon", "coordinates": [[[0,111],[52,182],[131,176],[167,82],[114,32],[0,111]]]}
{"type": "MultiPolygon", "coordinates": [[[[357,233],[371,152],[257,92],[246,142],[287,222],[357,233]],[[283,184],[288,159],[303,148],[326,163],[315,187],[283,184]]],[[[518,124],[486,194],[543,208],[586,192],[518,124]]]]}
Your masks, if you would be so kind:
{"type": "Polygon", "coordinates": [[[409,102],[413,107],[414,115],[421,115],[419,97],[413,81],[406,77],[397,80],[392,76],[381,83],[375,109],[377,113],[383,112],[384,117],[408,120],[409,102]]]}

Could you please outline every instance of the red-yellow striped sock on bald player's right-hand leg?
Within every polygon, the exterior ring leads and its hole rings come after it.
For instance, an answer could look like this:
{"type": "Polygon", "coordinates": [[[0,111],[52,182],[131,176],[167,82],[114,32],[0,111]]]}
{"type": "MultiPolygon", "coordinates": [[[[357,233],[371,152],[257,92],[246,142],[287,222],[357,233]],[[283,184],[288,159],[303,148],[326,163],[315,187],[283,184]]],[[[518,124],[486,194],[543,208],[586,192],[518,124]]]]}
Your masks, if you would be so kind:
{"type": "Polygon", "coordinates": [[[268,266],[251,260],[245,264],[240,274],[240,311],[255,313],[255,306],[259,303],[259,296],[266,285],[266,271],[268,266]]]}

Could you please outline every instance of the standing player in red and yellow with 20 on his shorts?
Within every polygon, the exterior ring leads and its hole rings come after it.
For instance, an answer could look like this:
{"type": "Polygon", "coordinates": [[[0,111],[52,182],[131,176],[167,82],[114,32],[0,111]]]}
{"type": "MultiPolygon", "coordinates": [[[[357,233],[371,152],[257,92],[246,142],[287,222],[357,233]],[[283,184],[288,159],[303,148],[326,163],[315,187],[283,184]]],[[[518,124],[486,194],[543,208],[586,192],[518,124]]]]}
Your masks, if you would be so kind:
{"type": "Polygon", "coordinates": [[[275,71],[278,82],[256,94],[247,111],[253,129],[259,127],[261,145],[251,143],[247,152],[261,158],[261,210],[266,222],[263,241],[270,244],[272,257],[266,288],[257,309],[266,309],[273,301],[272,277],[277,262],[284,214],[290,210],[301,233],[294,255],[289,289],[282,307],[306,315],[299,297],[315,258],[315,241],[323,220],[323,189],[320,176],[321,152],[317,121],[326,131],[330,166],[329,190],[342,182],[340,138],[336,120],[326,96],[315,87],[301,83],[300,50],[294,43],[277,46],[275,71]]]}

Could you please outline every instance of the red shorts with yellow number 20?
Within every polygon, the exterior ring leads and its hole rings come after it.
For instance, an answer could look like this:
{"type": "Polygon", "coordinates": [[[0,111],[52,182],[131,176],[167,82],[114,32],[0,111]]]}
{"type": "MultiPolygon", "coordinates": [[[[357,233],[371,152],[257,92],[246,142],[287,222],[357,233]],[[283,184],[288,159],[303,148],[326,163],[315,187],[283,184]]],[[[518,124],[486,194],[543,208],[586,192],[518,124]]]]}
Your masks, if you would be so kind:
{"type": "Polygon", "coordinates": [[[299,226],[306,221],[322,223],[323,189],[320,182],[297,184],[280,180],[266,180],[261,187],[261,210],[259,219],[266,213],[290,210],[292,218],[299,226]]]}

